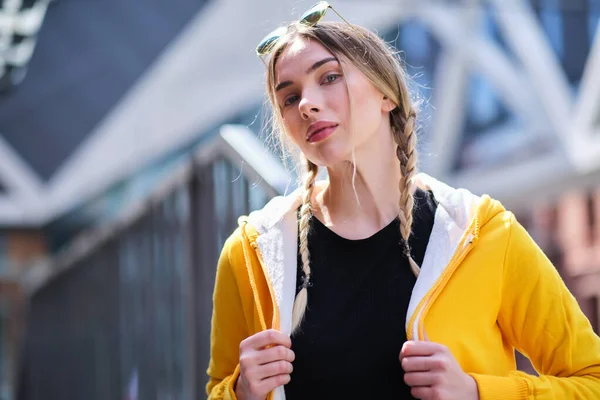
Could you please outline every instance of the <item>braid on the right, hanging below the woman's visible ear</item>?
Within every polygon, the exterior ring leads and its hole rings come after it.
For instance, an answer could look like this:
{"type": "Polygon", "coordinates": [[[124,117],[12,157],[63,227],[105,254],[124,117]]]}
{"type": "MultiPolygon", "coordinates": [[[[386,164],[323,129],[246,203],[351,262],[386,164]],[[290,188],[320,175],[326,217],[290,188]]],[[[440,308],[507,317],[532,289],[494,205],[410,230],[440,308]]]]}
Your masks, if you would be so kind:
{"type": "Polygon", "coordinates": [[[400,234],[404,242],[404,254],[408,259],[410,268],[415,276],[419,275],[421,268],[413,260],[410,252],[408,239],[412,233],[413,208],[415,204],[414,176],[417,172],[417,135],[415,133],[415,120],[417,117],[414,108],[410,108],[408,115],[402,118],[398,115],[392,116],[392,127],[394,128],[394,140],[398,147],[396,155],[400,161],[400,234]],[[400,119],[401,121],[398,121],[400,119]]]}

